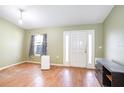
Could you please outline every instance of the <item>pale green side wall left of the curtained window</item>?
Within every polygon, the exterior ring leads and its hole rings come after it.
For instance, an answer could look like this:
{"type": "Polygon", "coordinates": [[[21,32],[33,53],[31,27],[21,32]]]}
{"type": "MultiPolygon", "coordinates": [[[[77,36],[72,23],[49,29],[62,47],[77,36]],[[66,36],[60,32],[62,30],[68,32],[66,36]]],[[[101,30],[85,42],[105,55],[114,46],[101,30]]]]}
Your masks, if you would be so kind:
{"type": "Polygon", "coordinates": [[[0,18],[0,67],[22,61],[23,38],[22,29],[0,18]]]}

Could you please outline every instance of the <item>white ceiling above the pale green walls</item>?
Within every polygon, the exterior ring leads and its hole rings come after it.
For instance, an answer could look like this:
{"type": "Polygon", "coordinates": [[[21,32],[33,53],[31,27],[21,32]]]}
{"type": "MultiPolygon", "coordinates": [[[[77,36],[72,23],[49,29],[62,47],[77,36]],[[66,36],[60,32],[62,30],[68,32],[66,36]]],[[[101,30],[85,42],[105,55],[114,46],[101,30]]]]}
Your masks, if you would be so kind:
{"type": "Polygon", "coordinates": [[[0,16],[24,29],[102,23],[112,5],[0,5],[0,16]],[[18,24],[19,8],[24,9],[18,24]]]}

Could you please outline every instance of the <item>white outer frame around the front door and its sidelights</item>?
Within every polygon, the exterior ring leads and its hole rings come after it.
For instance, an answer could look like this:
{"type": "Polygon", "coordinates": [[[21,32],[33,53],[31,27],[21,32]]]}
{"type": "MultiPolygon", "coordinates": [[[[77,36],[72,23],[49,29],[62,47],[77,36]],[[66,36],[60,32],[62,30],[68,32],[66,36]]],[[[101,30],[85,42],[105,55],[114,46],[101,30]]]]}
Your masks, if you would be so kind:
{"type": "MultiPolygon", "coordinates": [[[[66,51],[66,48],[65,48],[65,45],[66,45],[66,42],[65,42],[65,34],[66,33],[71,33],[71,32],[80,32],[80,31],[85,31],[87,32],[88,34],[89,33],[92,33],[92,36],[93,36],[93,54],[92,54],[92,64],[88,64],[88,58],[87,58],[87,64],[86,64],[86,67],[87,68],[94,68],[94,65],[95,65],[95,30],[72,30],[72,31],[64,31],[63,32],[63,65],[64,66],[70,66],[70,63],[69,62],[65,62],[65,51],[66,51]]],[[[88,51],[88,49],[87,49],[88,51]]],[[[87,53],[87,57],[88,57],[88,53],[87,53]]]]}

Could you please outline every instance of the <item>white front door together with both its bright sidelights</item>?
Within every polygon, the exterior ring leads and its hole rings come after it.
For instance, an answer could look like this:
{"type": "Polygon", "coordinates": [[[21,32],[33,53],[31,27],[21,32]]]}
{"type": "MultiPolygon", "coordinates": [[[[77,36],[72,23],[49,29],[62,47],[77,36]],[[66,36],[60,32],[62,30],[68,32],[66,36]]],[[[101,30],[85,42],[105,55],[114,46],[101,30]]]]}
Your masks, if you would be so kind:
{"type": "MultiPolygon", "coordinates": [[[[93,67],[93,44],[90,31],[64,32],[64,65],[73,67],[93,67]]],[[[93,40],[93,39],[92,39],[93,40]]]]}

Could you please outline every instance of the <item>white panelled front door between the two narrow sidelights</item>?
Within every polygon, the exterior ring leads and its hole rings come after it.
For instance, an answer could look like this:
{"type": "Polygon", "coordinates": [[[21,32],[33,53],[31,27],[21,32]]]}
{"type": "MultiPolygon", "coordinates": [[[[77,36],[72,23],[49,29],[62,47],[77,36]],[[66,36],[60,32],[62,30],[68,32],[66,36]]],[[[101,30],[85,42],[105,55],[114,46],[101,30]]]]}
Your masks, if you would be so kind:
{"type": "Polygon", "coordinates": [[[70,33],[70,66],[86,67],[87,32],[70,33]]]}

